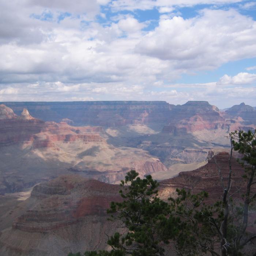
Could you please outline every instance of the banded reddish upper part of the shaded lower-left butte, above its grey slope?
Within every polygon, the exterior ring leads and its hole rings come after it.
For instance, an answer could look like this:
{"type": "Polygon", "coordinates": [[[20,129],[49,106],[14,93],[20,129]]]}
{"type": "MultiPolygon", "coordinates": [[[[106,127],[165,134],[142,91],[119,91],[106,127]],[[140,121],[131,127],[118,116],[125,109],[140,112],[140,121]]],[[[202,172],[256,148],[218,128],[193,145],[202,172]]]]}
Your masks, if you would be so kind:
{"type": "Polygon", "coordinates": [[[13,229],[27,232],[57,230],[82,221],[86,216],[106,215],[110,202],[121,200],[118,186],[80,176],[60,176],[43,182],[34,187],[31,197],[41,203],[16,219],[13,229]]]}

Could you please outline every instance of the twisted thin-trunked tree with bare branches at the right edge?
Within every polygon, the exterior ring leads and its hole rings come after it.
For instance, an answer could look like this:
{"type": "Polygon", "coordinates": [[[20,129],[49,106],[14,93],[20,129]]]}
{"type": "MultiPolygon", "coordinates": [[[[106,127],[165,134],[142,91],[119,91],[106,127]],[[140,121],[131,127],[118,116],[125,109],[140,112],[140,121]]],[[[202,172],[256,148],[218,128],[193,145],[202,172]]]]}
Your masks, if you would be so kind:
{"type": "Polygon", "coordinates": [[[249,207],[256,198],[255,193],[252,195],[252,186],[256,184],[256,182],[254,181],[256,169],[256,132],[252,130],[249,130],[248,132],[244,132],[242,130],[231,132],[230,145],[231,147],[229,157],[229,176],[226,184],[224,184],[223,181],[222,170],[216,161],[215,155],[213,156],[223,189],[223,221],[221,222],[220,226],[215,225],[217,233],[221,238],[220,249],[222,256],[237,256],[245,245],[252,243],[256,238],[256,234],[249,234],[247,232],[249,207]],[[246,182],[246,191],[244,199],[240,199],[240,204],[242,205],[240,207],[240,209],[242,209],[240,210],[240,213],[242,211],[241,225],[238,218],[234,218],[234,215],[236,215],[236,207],[233,206],[232,200],[232,196],[235,195],[237,192],[240,192],[241,188],[237,188],[237,191],[233,192],[231,195],[229,194],[232,185],[231,159],[233,150],[238,151],[240,154],[242,154],[243,157],[240,159],[240,163],[245,168],[245,174],[243,178],[246,182]],[[230,229],[232,229],[233,231],[231,235],[230,229]]]}

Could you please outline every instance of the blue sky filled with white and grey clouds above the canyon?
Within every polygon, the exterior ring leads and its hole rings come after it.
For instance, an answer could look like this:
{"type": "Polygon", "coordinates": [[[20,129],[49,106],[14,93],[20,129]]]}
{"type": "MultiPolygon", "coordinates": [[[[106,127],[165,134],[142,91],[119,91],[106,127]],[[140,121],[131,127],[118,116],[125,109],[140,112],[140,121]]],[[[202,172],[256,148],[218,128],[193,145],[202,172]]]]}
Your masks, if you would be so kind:
{"type": "Polygon", "coordinates": [[[2,102],[255,99],[255,0],[0,0],[2,102]]]}

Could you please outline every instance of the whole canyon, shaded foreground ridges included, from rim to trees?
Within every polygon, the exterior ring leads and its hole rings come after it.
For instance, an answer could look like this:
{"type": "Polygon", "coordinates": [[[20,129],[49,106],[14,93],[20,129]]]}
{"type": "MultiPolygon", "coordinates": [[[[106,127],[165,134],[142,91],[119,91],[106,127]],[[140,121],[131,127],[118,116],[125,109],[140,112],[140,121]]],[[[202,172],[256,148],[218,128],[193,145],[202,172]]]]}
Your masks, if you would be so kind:
{"type": "MultiPolygon", "coordinates": [[[[255,113],[206,101],[1,102],[0,254],[106,249],[105,233],[117,230],[106,210],[122,200],[117,184],[131,169],[160,180],[164,200],[176,188],[218,199],[212,152],[225,181],[229,132],[255,129],[255,113]]],[[[233,184],[243,191],[235,157],[233,184]]]]}

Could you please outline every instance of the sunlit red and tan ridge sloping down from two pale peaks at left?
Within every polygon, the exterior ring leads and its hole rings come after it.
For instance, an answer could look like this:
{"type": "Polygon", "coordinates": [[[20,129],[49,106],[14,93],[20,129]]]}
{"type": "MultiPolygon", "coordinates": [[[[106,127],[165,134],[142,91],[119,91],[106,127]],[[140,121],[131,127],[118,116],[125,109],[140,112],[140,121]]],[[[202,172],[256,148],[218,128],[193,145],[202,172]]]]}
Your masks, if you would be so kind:
{"type": "Polygon", "coordinates": [[[138,169],[142,176],[166,170],[147,151],[107,142],[109,137],[99,126],[45,122],[30,116],[27,109],[18,116],[1,105],[0,130],[0,194],[21,191],[59,174],[79,173],[114,183],[129,169],[138,169]]]}

